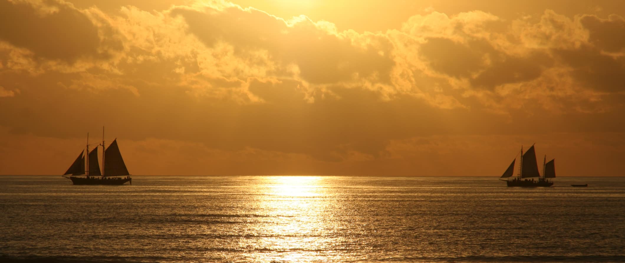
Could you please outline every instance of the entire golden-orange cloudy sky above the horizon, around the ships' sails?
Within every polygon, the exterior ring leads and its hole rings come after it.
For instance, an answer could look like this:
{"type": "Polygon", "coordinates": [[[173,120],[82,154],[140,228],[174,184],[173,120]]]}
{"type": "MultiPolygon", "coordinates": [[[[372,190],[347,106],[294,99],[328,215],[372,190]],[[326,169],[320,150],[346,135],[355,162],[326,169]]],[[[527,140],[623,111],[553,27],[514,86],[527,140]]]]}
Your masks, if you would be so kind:
{"type": "Polygon", "coordinates": [[[0,174],[104,125],[133,175],[623,175],[623,36],[621,0],[0,0],[0,174]]]}

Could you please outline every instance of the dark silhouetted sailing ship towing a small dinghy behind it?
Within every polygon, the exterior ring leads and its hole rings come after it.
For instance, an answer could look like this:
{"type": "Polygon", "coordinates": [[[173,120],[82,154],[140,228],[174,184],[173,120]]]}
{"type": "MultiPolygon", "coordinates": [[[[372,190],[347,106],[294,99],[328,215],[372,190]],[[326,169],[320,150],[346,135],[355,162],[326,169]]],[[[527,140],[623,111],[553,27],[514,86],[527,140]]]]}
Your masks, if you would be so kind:
{"type": "Polygon", "coordinates": [[[555,159],[547,162],[547,156],[545,155],[542,162],[542,176],[538,172],[538,164],[536,162],[536,152],[534,151],[534,145],[529,147],[525,153],[523,153],[523,147],[521,146],[521,158],[519,160],[519,173],[516,178],[509,179],[514,175],[514,163],[516,158],[512,160],[510,166],[501,176],[502,181],[506,181],[507,186],[521,186],[521,187],[549,187],[553,185],[553,181],[549,178],[556,177],[555,159]],[[534,179],[534,178],[537,178],[534,179]]]}

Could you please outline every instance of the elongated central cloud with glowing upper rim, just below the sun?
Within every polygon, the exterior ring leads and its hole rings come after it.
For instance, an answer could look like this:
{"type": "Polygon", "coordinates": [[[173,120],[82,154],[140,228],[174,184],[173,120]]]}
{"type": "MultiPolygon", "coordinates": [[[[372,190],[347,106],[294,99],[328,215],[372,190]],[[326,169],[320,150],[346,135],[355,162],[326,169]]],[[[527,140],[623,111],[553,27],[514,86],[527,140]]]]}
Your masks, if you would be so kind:
{"type": "Polygon", "coordinates": [[[285,21],[237,6],[203,11],[179,7],[172,14],[183,16],[189,32],[209,48],[225,42],[241,57],[267,52],[271,63],[260,60],[256,67],[276,63],[268,72],[276,76],[289,76],[287,69],[294,65],[299,77],[312,84],[360,78],[388,82],[394,65],[386,37],[339,33],[329,22],[312,22],[304,16],[285,21]]]}

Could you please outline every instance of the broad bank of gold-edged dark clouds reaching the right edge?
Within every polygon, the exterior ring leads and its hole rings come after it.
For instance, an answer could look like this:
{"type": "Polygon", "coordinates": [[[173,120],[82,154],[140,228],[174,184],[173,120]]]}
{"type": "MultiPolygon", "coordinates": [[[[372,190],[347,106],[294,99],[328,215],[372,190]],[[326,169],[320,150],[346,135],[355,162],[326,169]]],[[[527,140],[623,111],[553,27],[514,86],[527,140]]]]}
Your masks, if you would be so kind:
{"type": "Polygon", "coordinates": [[[413,85],[436,84],[434,89],[420,87],[426,97],[442,93],[465,107],[500,113],[529,110],[526,103],[604,111],[601,97],[606,92],[616,96],[623,88],[616,37],[621,22],[616,15],[570,18],[551,10],[509,21],[479,11],[456,16],[431,12],[411,17],[402,27],[417,48],[397,46],[412,71],[421,72],[413,85]]]}

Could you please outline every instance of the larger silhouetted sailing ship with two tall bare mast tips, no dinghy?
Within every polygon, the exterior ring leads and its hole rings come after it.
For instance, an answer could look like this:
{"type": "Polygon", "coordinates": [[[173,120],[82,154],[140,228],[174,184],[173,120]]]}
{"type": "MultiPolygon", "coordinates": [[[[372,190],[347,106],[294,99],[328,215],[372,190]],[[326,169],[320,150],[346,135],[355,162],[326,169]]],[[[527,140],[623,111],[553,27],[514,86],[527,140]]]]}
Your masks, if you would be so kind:
{"type": "Polygon", "coordinates": [[[68,178],[74,184],[133,184],[124,159],[119,152],[117,138],[104,149],[104,127],[102,128],[102,144],[89,151],[89,133],[87,133],[87,146],[78,158],[69,166],[63,177],[68,178]],[[102,146],[102,170],[98,164],[98,148],[102,146]],[[87,157],[87,158],[85,158],[87,157]],[[85,160],[86,159],[86,160],[85,160]]]}

